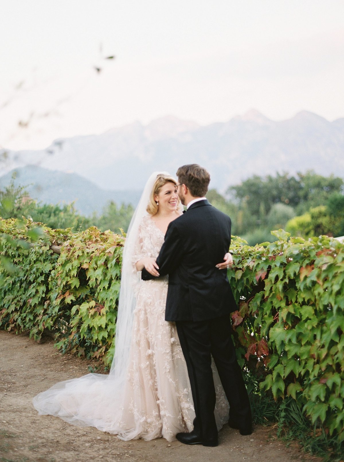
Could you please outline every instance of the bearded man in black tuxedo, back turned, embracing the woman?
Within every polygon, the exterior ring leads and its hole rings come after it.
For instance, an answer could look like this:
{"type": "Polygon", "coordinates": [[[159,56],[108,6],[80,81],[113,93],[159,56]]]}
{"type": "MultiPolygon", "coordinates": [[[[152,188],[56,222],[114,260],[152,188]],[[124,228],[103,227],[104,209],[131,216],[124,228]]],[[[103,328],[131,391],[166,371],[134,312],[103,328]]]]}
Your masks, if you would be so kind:
{"type": "MultiPolygon", "coordinates": [[[[217,446],[214,417],[213,356],[229,401],[229,425],[252,433],[251,409],[231,339],[230,312],[237,309],[227,271],[215,267],[231,243],[231,220],[204,197],[210,176],[197,164],[177,171],[178,196],[187,211],[167,228],[156,260],[160,276],[169,275],[166,321],[175,321],[190,377],[196,418],[184,444],[217,446]]],[[[143,280],[154,279],[146,269],[143,280]]]]}

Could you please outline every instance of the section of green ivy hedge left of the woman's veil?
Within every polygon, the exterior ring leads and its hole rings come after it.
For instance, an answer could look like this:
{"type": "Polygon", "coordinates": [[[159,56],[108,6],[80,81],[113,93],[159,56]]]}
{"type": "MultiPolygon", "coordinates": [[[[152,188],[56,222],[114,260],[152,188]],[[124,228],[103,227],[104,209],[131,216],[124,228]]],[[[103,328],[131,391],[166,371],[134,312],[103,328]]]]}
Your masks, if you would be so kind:
{"type": "Polygon", "coordinates": [[[46,329],[63,353],[111,363],[123,236],[38,225],[0,220],[0,328],[35,340],[46,329]]]}

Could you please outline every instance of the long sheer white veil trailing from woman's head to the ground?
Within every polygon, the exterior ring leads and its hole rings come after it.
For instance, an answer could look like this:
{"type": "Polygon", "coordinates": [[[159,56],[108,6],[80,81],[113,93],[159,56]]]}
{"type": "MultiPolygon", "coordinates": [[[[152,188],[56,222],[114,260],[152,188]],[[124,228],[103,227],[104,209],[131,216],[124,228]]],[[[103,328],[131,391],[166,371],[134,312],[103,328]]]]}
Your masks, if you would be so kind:
{"type": "Polygon", "coordinates": [[[167,172],[154,172],[148,178],[124,244],[115,355],[110,374],[87,374],[56,383],[33,398],[33,405],[39,414],[55,415],[74,425],[94,426],[102,431],[117,433],[117,423],[123,411],[122,400],[136,304],[135,286],[139,283],[139,275],[133,271],[132,259],[139,226],[148,214],[146,207],[159,174],[168,175],[167,172]]]}

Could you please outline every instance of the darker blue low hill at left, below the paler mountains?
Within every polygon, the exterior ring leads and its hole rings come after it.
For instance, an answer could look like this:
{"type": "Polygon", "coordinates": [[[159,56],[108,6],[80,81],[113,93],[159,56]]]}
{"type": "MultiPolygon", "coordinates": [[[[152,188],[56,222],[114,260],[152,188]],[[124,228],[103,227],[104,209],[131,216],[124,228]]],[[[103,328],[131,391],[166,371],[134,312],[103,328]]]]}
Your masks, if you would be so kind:
{"type": "Polygon", "coordinates": [[[14,184],[28,185],[27,190],[32,199],[46,204],[76,201],[75,208],[86,216],[93,212],[101,213],[108,201],[119,205],[122,202],[136,205],[141,196],[141,191],[109,191],[75,173],[47,170],[34,165],[18,168],[1,176],[0,189],[11,182],[14,171],[14,184]]]}

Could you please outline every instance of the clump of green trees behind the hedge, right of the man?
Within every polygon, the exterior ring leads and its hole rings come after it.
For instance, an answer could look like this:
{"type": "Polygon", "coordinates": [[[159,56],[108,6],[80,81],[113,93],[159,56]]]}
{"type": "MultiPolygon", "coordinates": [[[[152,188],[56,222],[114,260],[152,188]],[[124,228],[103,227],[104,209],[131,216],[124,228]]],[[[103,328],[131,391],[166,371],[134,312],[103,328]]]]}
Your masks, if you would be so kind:
{"type": "Polygon", "coordinates": [[[342,178],[333,175],[324,177],[313,171],[298,173],[296,176],[277,173],[276,176],[268,175],[264,178],[255,175],[240,185],[228,188],[227,194],[238,207],[237,216],[242,213],[248,217],[240,236],[254,245],[270,241],[270,231],[283,228],[287,223],[287,229],[293,235],[338,236],[336,226],[341,226],[337,223],[340,221],[337,215],[342,207],[343,185],[342,178]],[[332,197],[331,213],[329,208],[326,212],[317,208],[330,207],[327,203],[330,204],[328,201],[332,197]],[[332,219],[328,214],[332,215],[332,219]],[[299,216],[293,218],[295,215],[299,216]]]}

